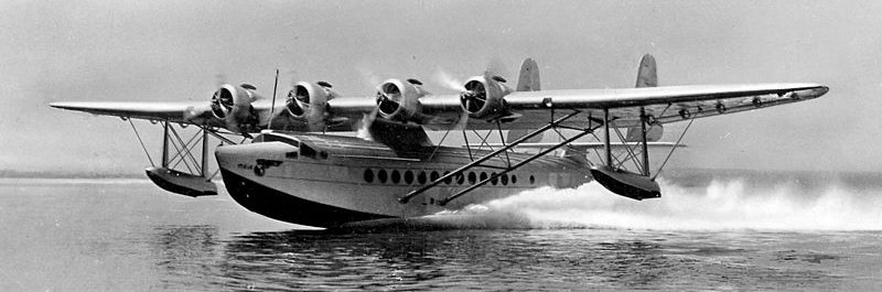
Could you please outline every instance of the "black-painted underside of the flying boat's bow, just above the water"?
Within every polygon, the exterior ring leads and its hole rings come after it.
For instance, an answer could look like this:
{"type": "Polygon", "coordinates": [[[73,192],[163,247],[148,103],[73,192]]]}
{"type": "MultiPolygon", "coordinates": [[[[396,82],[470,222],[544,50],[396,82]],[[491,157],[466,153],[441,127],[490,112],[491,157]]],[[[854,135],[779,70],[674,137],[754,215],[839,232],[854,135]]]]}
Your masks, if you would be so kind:
{"type": "Polygon", "coordinates": [[[220,169],[229,196],[243,207],[287,223],[314,227],[336,227],[345,223],[363,221],[391,216],[363,213],[302,199],[252,182],[220,169]]]}

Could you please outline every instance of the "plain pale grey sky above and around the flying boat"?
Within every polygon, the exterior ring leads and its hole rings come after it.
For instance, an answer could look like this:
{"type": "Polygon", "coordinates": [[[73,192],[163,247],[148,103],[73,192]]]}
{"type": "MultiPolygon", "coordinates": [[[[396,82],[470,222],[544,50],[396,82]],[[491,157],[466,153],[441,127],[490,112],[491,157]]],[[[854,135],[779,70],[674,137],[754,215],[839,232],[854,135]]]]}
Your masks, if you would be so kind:
{"type": "MultiPolygon", "coordinates": [[[[808,82],[822,98],[696,120],[675,166],[882,171],[879,1],[0,1],[0,170],[140,173],[128,122],[52,101],[206,101],[326,80],[347,96],[416,77],[452,93],[491,62],[544,89],[808,82]]],[[[505,73],[505,72],[503,72],[505,73]]],[[[514,79],[515,76],[509,76],[514,79]]],[[[158,151],[158,127],[138,123],[158,151]],[[157,129],[154,129],[157,128],[157,129]]],[[[667,140],[678,132],[671,127],[667,140]]],[[[153,155],[157,155],[154,152],[153,155]]]]}

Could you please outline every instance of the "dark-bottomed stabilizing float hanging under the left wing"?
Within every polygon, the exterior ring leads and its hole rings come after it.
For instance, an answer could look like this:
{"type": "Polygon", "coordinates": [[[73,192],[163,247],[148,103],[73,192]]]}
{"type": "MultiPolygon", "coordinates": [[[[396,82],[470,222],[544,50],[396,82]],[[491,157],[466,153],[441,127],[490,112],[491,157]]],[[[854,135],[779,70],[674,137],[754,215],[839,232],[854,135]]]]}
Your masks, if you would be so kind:
{"type": "Polygon", "coordinates": [[[191,197],[217,195],[217,186],[205,177],[165,167],[148,167],[144,171],[150,181],[162,190],[191,197]]]}

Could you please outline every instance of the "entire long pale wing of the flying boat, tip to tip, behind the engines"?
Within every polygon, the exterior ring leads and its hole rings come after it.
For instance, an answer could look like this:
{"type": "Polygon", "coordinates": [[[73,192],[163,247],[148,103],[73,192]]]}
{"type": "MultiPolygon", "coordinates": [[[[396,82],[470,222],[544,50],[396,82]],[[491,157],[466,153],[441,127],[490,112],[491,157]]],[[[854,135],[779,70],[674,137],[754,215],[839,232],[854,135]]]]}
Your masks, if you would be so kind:
{"type": "MultiPolygon", "coordinates": [[[[574,109],[580,115],[571,123],[584,125],[602,119],[610,111],[611,126],[634,127],[641,121],[641,110],[659,123],[717,115],[733,113],[763,107],[797,102],[826,94],[828,88],[817,84],[747,84],[666,86],[620,89],[577,89],[514,91],[503,96],[505,110],[517,118],[502,125],[503,129],[536,129],[555,119],[556,109],[574,109]]],[[[445,130],[496,129],[496,123],[480,119],[463,120],[459,95],[437,95],[420,98],[423,126],[445,130]]],[[[171,122],[229,127],[229,121],[212,113],[209,102],[52,102],[50,106],[67,110],[123,118],[168,120],[171,122]]],[[[251,104],[255,123],[272,129],[310,131],[305,118],[294,118],[286,111],[283,102],[275,108],[268,100],[251,104]]],[[[316,112],[324,130],[352,131],[359,121],[368,119],[377,109],[369,97],[340,97],[327,100],[316,112]]],[[[557,113],[560,116],[560,113],[557,113]]]]}

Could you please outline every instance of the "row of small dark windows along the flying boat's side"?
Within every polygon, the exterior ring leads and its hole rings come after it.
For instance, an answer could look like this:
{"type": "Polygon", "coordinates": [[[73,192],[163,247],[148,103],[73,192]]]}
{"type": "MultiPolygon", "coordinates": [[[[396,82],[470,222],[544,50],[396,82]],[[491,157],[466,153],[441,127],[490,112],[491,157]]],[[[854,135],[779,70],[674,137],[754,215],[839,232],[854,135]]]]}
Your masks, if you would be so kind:
{"type": "MultiPolygon", "coordinates": [[[[386,182],[389,182],[389,183],[392,183],[392,184],[398,184],[398,183],[401,183],[401,182],[404,182],[405,184],[412,184],[415,182],[415,179],[416,179],[417,184],[426,184],[426,183],[429,183],[429,182],[433,182],[433,181],[435,181],[438,179],[441,179],[441,176],[442,176],[441,173],[439,173],[438,171],[432,171],[428,175],[426,174],[424,171],[420,171],[417,174],[415,174],[415,172],[412,172],[412,171],[404,171],[404,174],[401,174],[401,173],[402,172],[399,172],[398,170],[392,170],[392,171],[377,170],[376,174],[375,174],[374,170],[366,169],[365,170],[364,180],[367,183],[373,183],[376,180],[377,182],[379,182],[381,184],[385,184],[386,182]]],[[[443,175],[448,175],[448,174],[450,174],[450,172],[445,171],[443,175]]],[[[453,176],[450,176],[450,177],[445,179],[444,180],[444,184],[460,184],[461,185],[461,184],[465,183],[466,179],[469,180],[469,184],[476,184],[477,182],[487,180],[487,177],[493,177],[495,175],[496,175],[495,172],[490,173],[490,174],[487,174],[486,172],[481,172],[480,174],[477,174],[475,172],[469,172],[469,174],[460,173],[460,174],[456,174],[456,175],[453,175],[453,176]]],[[[536,177],[530,175],[529,181],[530,181],[530,184],[535,184],[536,183],[536,177]]],[[[509,183],[514,185],[514,184],[517,184],[517,175],[515,175],[515,174],[508,175],[507,173],[504,173],[502,175],[498,175],[498,176],[492,179],[490,181],[490,183],[492,185],[496,185],[496,184],[508,185],[509,183]]]]}

